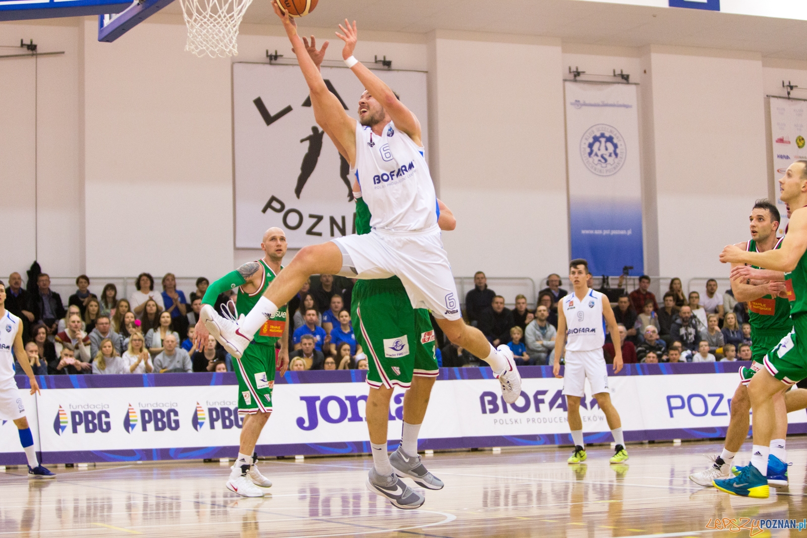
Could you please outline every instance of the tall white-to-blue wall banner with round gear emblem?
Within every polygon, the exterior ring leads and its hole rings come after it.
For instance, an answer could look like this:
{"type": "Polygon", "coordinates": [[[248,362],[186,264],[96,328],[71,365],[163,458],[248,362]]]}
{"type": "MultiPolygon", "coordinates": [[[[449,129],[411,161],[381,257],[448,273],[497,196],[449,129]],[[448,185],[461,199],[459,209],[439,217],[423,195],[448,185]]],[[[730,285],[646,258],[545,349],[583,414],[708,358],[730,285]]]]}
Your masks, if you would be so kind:
{"type": "Polygon", "coordinates": [[[564,83],[571,257],[595,275],[644,272],[636,86],[564,83]]]}

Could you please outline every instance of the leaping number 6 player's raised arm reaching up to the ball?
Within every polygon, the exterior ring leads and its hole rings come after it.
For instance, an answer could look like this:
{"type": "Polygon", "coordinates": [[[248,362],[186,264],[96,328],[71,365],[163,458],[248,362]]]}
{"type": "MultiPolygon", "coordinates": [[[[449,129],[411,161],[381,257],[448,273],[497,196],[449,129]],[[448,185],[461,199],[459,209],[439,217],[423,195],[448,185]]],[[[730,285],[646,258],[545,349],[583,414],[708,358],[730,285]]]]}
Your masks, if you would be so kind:
{"type": "MultiPolygon", "coordinates": [[[[342,108],[342,103],[336,95],[328,90],[320,74],[319,67],[314,63],[303,40],[297,35],[297,23],[287,13],[284,14],[273,1],[272,9],[275,15],[283,21],[283,28],[291,41],[291,48],[297,56],[300,70],[308,85],[311,94],[311,105],[314,109],[314,119],[328,133],[331,139],[339,140],[348,155],[345,159],[352,165],[356,161],[356,120],[350,118],[342,108]]],[[[324,53],[324,50],[321,51],[324,53]]],[[[322,61],[320,59],[320,61],[322,61]]]]}

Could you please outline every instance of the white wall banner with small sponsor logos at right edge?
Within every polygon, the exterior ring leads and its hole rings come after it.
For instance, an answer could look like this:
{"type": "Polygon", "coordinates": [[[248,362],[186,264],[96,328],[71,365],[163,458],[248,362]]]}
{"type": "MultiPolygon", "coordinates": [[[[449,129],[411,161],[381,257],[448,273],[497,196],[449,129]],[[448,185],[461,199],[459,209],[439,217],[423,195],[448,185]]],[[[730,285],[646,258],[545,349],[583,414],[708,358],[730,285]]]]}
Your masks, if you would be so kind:
{"type": "MultiPolygon", "coordinates": [[[[773,179],[778,181],[793,161],[807,159],[807,101],[771,97],[771,142],[773,143],[773,179]]],[[[779,185],[774,185],[779,192],[779,185]]],[[[776,208],[782,217],[779,229],[788,223],[788,210],[776,196],[776,208]]]]}

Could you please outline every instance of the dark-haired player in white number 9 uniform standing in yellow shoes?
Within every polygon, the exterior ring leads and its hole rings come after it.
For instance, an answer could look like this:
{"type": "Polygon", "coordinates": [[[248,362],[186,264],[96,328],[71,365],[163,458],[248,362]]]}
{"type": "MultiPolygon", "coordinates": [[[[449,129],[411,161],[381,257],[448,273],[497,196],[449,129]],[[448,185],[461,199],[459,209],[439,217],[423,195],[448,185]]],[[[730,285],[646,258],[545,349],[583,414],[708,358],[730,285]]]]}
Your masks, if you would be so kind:
{"type": "Polygon", "coordinates": [[[608,298],[587,285],[588,262],[572,260],[569,263],[569,280],[574,290],[558,302],[558,336],[555,338],[555,358],[552,373],[563,379],[563,394],[566,395],[567,415],[575,452],[567,460],[580,463],[586,460],[586,444],[583,442],[583,420],[580,419],[580,398],[585,397],[583,387],[586,378],[592,386],[597,405],[605,414],[617,452],[611,463],[628,459],[622,423],[608,392],[608,372],[603,357],[605,330],[611,333],[613,342],[613,373],[622,369],[622,347],[619,341],[617,319],[611,310],[608,298]],[[566,369],[560,375],[560,358],[566,349],[566,369]]]}

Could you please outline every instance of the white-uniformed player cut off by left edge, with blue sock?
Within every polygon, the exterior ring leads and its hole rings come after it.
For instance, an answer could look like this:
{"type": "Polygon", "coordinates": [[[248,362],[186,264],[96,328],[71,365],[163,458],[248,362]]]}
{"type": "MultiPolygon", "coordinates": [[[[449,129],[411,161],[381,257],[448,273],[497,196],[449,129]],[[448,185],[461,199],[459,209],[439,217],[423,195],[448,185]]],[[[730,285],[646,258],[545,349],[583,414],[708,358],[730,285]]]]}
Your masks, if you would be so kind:
{"type": "Polygon", "coordinates": [[[34,371],[23,345],[23,320],[6,311],[6,285],[0,282],[0,419],[12,420],[19,433],[19,442],[23,445],[28,460],[28,478],[56,478],[56,474],[45,469],[36,460],[34,437],[25,417],[23,400],[19,398],[19,389],[14,379],[14,355],[19,365],[27,374],[31,383],[31,394],[40,392],[34,371]]]}

